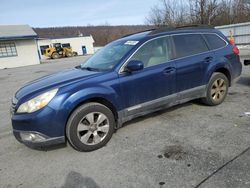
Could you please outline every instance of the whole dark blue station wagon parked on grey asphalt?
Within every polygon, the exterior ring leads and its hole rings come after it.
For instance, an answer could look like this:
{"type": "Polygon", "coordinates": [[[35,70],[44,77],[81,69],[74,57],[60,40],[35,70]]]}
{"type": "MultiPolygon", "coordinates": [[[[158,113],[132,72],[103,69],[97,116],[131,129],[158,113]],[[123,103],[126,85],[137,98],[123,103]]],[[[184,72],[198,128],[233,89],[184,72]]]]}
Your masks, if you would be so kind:
{"type": "Polygon", "coordinates": [[[96,150],[135,117],[193,99],[221,104],[241,71],[238,48],[212,27],[136,33],[19,89],[13,133],[26,145],[96,150]]]}

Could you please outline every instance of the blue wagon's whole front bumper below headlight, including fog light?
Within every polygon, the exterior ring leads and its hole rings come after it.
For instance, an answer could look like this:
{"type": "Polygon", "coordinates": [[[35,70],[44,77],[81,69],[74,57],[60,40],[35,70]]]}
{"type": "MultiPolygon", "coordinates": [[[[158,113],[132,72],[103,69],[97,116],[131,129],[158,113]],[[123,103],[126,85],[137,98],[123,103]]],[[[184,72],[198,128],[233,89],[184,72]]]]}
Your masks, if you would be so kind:
{"type": "Polygon", "coordinates": [[[11,117],[16,139],[30,146],[49,146],[65,142],[65,118],[53,108],[11,117]]]}

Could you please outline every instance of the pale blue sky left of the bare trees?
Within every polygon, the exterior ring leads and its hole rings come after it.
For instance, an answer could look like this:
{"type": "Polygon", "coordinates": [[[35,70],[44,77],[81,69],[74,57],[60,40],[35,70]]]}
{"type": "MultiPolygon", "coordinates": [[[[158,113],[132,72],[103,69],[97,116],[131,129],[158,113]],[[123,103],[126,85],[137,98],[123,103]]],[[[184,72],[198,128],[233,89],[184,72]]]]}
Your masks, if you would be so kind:
{"type": "Polygon", "coordinates": [[[144,24],[159,0],[0,0],[0,25],[32,27],[144,24]]]}

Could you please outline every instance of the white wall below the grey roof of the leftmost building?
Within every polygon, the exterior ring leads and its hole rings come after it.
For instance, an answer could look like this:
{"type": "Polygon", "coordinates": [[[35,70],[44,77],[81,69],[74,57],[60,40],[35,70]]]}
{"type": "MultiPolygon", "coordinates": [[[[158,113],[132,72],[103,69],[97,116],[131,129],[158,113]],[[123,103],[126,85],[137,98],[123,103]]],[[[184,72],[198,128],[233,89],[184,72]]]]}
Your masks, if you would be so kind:
{"type": "Polygon", "coordinates": [[[35,40],[15,40],[11,42],[16,45],[17,56],[0,57],[0,69],[40,64],[35,40]]]}

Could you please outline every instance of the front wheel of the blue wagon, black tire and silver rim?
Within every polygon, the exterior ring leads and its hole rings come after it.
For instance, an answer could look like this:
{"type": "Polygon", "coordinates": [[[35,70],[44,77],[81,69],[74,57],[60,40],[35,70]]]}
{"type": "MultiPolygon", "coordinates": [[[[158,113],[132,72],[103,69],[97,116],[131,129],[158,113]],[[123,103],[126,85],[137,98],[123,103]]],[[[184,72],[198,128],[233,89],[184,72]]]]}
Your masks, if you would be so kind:
{"type": "Polygon", "coordinates": [[[97,150],[111,139],[115,118],[112,111],[99,103],[87,103],[78,107],[66,126],[69,143],[78,151],[97,150]]]}

